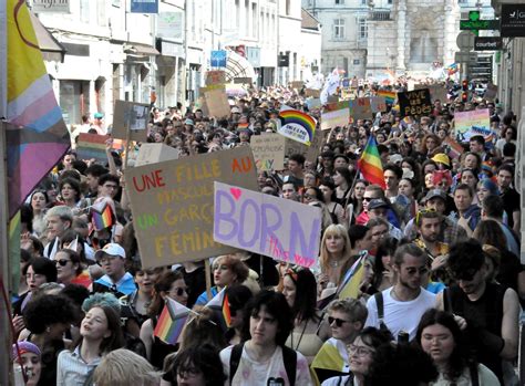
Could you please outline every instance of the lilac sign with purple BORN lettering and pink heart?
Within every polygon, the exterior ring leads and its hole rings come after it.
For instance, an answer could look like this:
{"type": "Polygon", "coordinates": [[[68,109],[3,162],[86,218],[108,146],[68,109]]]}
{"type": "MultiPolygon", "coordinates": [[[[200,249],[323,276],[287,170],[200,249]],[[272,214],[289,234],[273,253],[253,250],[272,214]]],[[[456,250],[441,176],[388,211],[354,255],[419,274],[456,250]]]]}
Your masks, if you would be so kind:
{"type": "Polygon", "coordinates": [[[215,182],[215,241],[309,268],[320,238],[320,208],[215,182]]]}

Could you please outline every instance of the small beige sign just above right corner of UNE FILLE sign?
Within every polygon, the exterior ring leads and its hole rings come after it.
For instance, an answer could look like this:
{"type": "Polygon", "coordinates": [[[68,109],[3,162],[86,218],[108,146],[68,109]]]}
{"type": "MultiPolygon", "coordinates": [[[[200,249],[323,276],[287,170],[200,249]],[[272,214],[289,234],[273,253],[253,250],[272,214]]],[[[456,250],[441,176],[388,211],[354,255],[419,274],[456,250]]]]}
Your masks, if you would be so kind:
{"type": "Polygon", "coordinates": [[[250,138],[257,170],[282,170],[285,168],[286,138],[276,133],[262,133],[250,138]]]}

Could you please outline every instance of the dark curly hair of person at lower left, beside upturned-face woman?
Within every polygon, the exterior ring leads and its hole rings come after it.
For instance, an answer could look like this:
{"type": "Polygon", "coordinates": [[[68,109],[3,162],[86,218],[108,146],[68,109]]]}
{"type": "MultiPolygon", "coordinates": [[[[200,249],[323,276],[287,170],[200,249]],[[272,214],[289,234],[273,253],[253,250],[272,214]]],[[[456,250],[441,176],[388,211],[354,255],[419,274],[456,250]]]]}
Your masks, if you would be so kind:
{"type": "Polygon", "coordinates": [[[31,299],[23,309],[25,327],[33,334],[42,334],[55,323],[72,323],[75,311],[71,300],[64,295],[42,294],[31,299]]]}

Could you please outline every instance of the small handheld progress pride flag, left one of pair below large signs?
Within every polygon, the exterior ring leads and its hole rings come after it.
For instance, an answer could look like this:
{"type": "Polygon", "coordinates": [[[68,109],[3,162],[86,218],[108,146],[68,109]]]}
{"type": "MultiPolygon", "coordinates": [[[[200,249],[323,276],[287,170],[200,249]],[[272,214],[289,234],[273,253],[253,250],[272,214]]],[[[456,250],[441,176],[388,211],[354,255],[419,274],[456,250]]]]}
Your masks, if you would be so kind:
{"type": "Polygon", "coordinates": [[[188,307],[177,303],[171,298],[166,298],[166,304],[162,310],[153,334],[161,341],[175,345],[186,325],[191,312],[188,307]]]}

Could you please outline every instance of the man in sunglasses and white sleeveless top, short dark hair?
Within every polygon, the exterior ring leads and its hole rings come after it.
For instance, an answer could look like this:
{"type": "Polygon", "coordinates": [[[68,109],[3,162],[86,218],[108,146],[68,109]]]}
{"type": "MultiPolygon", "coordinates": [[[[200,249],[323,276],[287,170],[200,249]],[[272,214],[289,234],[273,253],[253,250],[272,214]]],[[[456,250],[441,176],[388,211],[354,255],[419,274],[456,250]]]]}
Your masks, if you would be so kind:
{"type": "Polygon", "coordinates": [[[426,285],[428,259],[428,254],[413,243],[397,249],[392,262],[395,284],[367,301],[366,326],[379,328],[384,325],[395,338],[402,332],[409,334],[409,340],[415,337],[421,315],[435,303],[435,294],[422,288],[426,285]]]}

